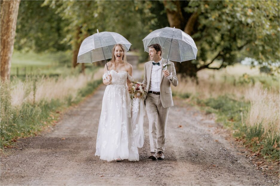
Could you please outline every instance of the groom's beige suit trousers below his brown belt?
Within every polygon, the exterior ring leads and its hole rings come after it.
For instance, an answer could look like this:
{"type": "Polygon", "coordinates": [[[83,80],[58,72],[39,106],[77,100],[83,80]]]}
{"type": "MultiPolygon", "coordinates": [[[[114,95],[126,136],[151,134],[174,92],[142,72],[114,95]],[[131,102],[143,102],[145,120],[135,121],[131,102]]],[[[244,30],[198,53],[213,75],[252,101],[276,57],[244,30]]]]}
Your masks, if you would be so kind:
{"type": "Polygon", "coordinates": [[[170,107],[163,108],[160,95],[148,93],[146,110],[149,119],[149,138],[151,152],[164,152],[168,111],[170,107]]]}

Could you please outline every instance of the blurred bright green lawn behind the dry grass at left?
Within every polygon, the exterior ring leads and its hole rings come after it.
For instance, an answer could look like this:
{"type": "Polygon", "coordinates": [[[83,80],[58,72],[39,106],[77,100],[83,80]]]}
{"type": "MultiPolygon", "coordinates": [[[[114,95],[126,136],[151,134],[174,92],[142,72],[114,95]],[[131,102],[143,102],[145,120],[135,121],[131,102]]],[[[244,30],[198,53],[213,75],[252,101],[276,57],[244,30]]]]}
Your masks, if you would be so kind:
{"type": "MultiPolygon", "coordinates": [[[[14,51],[12,56],[11,79],[13,76],[25,79],[26,75],[72,75],[80,73],[81,65],[71,68],[71,52],[19,52],[14,51]]],[[[95,63],[86,63],[86,73],[96,68],[95,63]]]]}

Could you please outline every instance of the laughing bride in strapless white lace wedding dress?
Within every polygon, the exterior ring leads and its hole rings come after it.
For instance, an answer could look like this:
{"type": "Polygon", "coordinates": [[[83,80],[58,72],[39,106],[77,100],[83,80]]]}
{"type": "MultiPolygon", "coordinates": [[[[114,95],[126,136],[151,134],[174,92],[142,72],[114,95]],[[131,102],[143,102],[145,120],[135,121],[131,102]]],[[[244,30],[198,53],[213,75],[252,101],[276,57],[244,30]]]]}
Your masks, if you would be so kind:
{"type": "Polygon", "coordinates": [[[107,63],[109,71],[106,65],[104,67],[103,83],[107,86],[102,100],[95,155],[107,161],[139,161],[138,148],[144,143],[144,108],[139,99],[134,99],[131,104],[126,83],[133,80],[132,66],[127,63],[124,51],[123,45],[116,44],[112,60],[107,63]]]}

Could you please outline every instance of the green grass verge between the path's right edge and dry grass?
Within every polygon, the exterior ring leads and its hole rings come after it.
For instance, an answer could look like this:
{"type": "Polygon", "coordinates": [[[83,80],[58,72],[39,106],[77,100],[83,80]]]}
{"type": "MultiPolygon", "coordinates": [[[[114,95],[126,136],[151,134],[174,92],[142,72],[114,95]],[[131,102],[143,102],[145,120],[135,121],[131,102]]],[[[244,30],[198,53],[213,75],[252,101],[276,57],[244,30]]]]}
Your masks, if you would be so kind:
{"type": "MultiPolygon", "coordinates": [[[[179,97],[185,98],[184,94],[180,94],[179,97]]],[[[279,160],[279,130],[277,128],[266,129],[265,121],[247,125],[245,121],[250,111],[249,101],[236,100],[230,95],[206,99],[192,97],[191,99],[205,110],[206,114],[214,113],[217,122],[232,129],[233,137],[241,140],[256,155],[263,156],[268,162],[279,160]]],[[[269,123],[269,126],[276,125],[277,123],[269,123]]]]}

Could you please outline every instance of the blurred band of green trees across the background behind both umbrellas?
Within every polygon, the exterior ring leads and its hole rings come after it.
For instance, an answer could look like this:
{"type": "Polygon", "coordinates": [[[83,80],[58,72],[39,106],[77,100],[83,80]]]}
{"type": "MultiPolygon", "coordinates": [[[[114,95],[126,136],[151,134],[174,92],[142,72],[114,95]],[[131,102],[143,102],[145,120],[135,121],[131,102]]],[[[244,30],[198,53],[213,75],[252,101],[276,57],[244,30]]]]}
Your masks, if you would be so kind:
{"type": "Polygon", "coordinates": [[[99,29],[123,35],[144,62],[141,40],[167,26],[191,35],[198,48],[197,60],[175,63],[178,73],[196,77],[245,57],[279,72],[279,1],[22,1],[15,49],[71,50],[75,67],[81,42],[99,29]]]}

